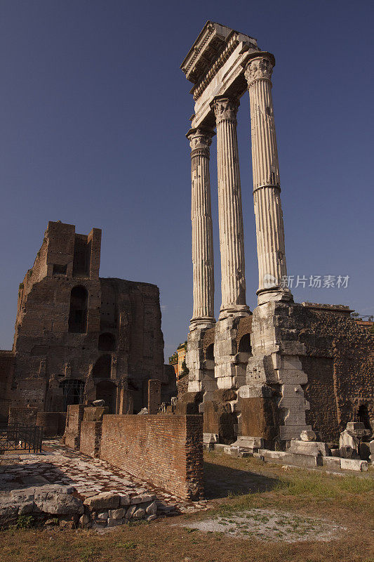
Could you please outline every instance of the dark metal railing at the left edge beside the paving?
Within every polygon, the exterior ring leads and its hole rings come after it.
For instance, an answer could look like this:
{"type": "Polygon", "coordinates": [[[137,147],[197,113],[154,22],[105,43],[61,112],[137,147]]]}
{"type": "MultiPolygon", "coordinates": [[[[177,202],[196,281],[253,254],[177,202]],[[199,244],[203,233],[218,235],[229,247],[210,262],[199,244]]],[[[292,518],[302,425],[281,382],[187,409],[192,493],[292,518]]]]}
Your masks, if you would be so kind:
{"type": "Polygon", "coordinates": [[[43,428],[25,424],[0,425],[0,455],[6,451],[41,452],[43,428]]]}

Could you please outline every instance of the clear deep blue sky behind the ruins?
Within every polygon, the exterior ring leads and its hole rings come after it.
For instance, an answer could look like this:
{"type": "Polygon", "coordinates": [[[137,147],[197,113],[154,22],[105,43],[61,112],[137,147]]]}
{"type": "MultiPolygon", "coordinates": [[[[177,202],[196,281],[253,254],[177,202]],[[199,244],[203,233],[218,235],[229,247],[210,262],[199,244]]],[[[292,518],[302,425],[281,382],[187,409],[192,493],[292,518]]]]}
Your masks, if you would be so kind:
{"type": "MultiPolygon", "coordinates": [[[[102,277],[156,283],[165,356],[192,315],[190,84],[206,20],[274,53],[273,98],[289,275],[349,275],[296,301],[373,306],[372,1],[0,1],[0,347],[51,221],[102,228],[102,277]]],[[[238,115],[247,302],[255,306],[248,94],[238,115]]],[[[211,149],[215,303],[217,174],[211,149]]]]}

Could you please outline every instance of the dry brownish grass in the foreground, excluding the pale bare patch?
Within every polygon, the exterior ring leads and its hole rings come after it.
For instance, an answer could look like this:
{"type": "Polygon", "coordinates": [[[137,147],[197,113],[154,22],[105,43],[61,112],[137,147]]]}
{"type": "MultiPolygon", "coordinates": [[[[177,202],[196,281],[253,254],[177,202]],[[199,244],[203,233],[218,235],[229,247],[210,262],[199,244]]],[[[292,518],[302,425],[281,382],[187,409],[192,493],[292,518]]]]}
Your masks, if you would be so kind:
{"type": "MultiPolygon", "coordinates": [[[[370,523],[373,478],[338,478],[324,473],[283,471],[256,459],[208,454],[207,478],[220,485],[220,499],[202,514],[180,516],[178,523],[248,507],[283,509],[302,517],[328,518],[347,528],[329,543],[264,542],[175,527],[175,518],[93,531],[23,529],[0,532],[4,562],[374,562],[370,523]],[[241,482],[230,479],[235,476],[241,482]],[[248,478],[247,478],[248,477],[248,478]],[[247,478],[247,480],[246,480],[247,478]],[[243,485],[243,481],[246,482],[243,485]],[[250,485],[248,486],[248,482],[250,485]],[[253,483],[253,485],[252,485],[253,483]],[[248,493],[248,489],[265,491],[248,493]],[[222,497],[227,485],[226,497],[222,497]],[[243,488],[248,488],[243,490],[243,488]]],[[[209,495],[214,496],[213,486],[209,495]]]]}

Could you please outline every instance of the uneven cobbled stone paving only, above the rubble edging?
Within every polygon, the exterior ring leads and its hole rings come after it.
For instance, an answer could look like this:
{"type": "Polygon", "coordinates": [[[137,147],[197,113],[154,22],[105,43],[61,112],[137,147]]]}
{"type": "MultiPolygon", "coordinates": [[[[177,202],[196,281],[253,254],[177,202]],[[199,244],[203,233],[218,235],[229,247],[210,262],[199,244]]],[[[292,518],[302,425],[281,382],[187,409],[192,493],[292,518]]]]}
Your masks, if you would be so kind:
{"type": "Polygon", "coordinates": [[[58,440],[46,440],[43,452],[38,455],[4,455],[1,464],[6,471],[0,473],[0,492],[45,484],[72,485],[81,499],[100,492],[156,494],[159,511],[175,514],[207,509],[206,500],[185,502],[175,495],[155,488],[149,483],[102,461],[81,455],[58,440]]]}

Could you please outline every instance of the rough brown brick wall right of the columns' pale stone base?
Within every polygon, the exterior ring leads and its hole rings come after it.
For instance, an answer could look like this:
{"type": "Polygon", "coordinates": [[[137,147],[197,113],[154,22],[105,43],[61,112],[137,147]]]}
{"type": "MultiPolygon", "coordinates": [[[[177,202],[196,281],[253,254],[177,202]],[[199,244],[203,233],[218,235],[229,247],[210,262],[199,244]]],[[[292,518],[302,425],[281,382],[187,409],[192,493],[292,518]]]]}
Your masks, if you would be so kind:
{"type": "Polygon", "coordinates": [[[307,424],[321,440],[336,441],[365,405],[374,428],[374,335],[340,313],[305,308],[303,317],[298,338],[306,351],[300,360],[308,376],[307,424]]]}

